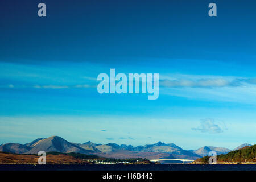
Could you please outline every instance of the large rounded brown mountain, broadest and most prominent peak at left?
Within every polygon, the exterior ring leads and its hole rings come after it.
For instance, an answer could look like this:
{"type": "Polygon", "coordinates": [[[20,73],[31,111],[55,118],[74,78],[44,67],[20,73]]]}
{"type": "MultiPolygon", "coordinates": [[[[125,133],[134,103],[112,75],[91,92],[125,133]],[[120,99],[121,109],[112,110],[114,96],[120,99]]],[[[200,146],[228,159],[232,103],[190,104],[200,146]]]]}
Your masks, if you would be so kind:
{"type": "Polygon", "coordinates": [[[25,154],[38,154],[39,151],[56,151],[62,153],[76,152],[81,154],[92,154],[92,151],[85,150],[84,148],[81,148],[57,136],[39,140],[38,142],[32,144],[31,150],[25,152],[25,154]]]}

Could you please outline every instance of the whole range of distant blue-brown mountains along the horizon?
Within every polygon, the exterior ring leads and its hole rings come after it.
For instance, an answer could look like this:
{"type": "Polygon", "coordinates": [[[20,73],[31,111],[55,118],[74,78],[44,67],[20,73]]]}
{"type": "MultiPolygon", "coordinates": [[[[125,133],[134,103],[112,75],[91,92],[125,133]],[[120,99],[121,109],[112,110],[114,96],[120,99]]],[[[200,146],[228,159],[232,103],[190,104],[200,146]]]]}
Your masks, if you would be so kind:
{"type": "MultiPolygon", "coordinates": [[[[250,146],[250,144],[242,144],[234,150],[250,146]]],[[[146,159],[160,159],[160,158],[183,158],[183,159],[199,159],[208,155],[209,151],[216,151],[218,155],[227,154],[232,151],[228,148],[204,146],[197,150],[183,150],[174,143],[158,142],[155,144],[146,144],[144,146],[131,146],[126,144],[96,144],[93,142],[72,143],[67,140],[52,136],[49,138],[38,138],[30,143],[6,143],[0,146],[0,151],[11,152],[15,154],[38,154],[39,151],[46,152],[75,152],[80,154],[93,154],[105,158],[146,158],[146,159]]]]}

